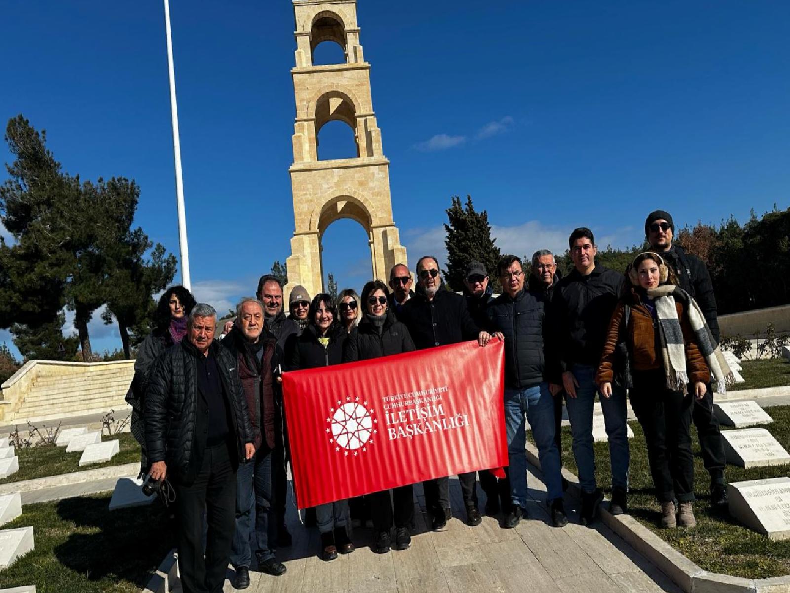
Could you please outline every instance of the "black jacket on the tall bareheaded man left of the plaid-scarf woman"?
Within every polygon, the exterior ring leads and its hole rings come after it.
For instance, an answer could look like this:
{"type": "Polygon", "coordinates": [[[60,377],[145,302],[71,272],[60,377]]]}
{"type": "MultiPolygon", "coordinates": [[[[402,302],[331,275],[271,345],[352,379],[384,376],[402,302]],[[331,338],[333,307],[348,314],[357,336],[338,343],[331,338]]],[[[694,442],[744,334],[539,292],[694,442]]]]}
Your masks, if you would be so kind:
{"type": "MultiPolygon", "coordinates": [[[[557,372],[569,371],[573,364],[598,367],[626,278],[604,266],[595,266],[582,276],[573,270],[555,286],[551,298],[550,357],[557,372]]],[[[552,377],[559,380],[559,377],[552,377]]]]}

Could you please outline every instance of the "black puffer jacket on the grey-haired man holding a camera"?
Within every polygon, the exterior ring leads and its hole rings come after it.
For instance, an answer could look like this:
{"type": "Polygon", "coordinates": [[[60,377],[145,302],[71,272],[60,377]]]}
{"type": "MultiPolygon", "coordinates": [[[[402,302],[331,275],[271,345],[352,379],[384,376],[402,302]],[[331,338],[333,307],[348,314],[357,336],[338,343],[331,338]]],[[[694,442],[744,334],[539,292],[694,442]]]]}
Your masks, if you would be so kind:
{"type": "MultiPolygon", "coordinates": [[[[220,371],[231,424],[231,463],[245,458],[245,444],[255,440],[237,362],[219,342],[210,346],[220,371]]],[[[167,463],[167,475],[190,485],[200,470],[209,432],[209,404],[198,390],[198,357],[187,339],[156,359],[145,393],[145,442],[151,463],[167,463]]]]}

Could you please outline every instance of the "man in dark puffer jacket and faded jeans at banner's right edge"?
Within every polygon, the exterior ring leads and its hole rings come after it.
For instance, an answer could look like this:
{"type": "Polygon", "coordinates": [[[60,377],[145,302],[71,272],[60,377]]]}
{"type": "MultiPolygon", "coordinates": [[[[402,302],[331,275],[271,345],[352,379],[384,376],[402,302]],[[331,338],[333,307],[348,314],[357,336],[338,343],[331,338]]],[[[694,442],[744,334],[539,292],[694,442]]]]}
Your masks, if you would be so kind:
{"type": "Polygon", "coordinates": [[[561,464],[554,438],[554,401],[544,380],[545,302],[524,288],[524,267],[515,255],[503,257],[497,272],[504,292],[488,305],[488,316],[491,329],[505,337],[505,428],[511,497],[505,527],[518,525],[527,504],[525,420],[529,420],[538,448],[551,521],[555,527],[565,527],[568,519],[562,505],[561,464]]]}

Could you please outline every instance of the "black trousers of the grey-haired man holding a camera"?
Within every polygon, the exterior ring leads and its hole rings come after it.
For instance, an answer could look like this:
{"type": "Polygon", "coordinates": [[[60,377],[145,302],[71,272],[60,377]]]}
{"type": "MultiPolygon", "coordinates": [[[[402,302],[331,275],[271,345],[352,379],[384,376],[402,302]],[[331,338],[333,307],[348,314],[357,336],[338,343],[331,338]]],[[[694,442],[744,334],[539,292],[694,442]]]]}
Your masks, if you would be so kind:
{"type": "Polygon", "coordinates": [[[188,486],[175,485],[178,549],[184,593],[221,593],[235,529],[236,474],[227,444],[206,448],[188,486]],[[209,523],[203,555],[203,515],[209,523]]]}

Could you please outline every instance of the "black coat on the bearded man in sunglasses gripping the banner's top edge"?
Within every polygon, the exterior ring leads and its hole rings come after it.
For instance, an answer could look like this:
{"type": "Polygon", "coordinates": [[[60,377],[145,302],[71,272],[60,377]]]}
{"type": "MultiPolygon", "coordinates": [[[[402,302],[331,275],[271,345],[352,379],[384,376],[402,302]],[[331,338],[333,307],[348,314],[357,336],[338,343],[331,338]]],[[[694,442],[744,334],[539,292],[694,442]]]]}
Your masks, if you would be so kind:
{"type": "Polygon", "coordinates": [[[408,327],[418,350],[475,340],[481,329],[466,310],[464,297],[443,287],[433,300],[417,289],[398,319],[408,327]]]}

